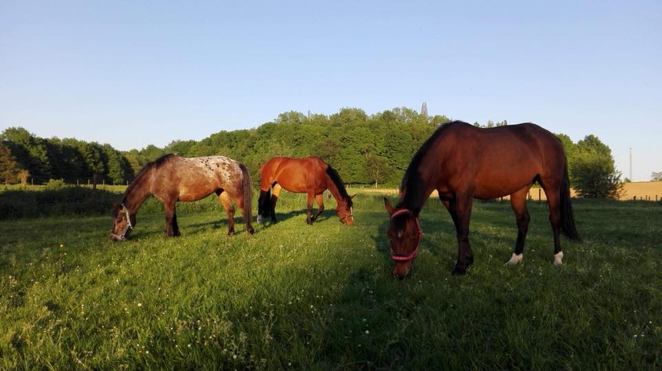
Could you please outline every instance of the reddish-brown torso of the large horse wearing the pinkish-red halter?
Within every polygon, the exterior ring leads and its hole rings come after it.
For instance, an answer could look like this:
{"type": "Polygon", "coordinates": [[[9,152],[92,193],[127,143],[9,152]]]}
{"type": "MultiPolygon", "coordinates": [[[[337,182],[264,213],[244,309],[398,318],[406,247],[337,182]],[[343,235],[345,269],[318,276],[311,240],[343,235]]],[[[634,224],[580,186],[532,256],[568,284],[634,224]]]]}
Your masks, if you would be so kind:
{"type": "Polygon", "coordinates": [[[438,174],[438,189],[472,188],[485,199],[512,194],[550,168],[561,171],[565,161],[561,142],[534,123],[489,129],[454,124],[426,157],[421,166],[438,174]]]}

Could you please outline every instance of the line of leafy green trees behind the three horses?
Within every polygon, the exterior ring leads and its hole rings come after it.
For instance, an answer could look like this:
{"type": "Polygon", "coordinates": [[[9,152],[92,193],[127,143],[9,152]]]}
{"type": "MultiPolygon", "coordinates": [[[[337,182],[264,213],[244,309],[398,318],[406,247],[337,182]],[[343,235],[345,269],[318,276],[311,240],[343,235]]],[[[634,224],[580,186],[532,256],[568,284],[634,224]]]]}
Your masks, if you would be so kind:
{"type": "MultiPolygon", "coordinates": [[[[126,183],[149,161],[166,153],[185,157],[221,154],[243,162],[251,174],[259,174],[261,164],[274,156],[316,155],[338,170],[345,183],[395,187],[423,141],[450,121],[443,115],[430,116],[426,109],[417,112],[404,107],[370,115],[359,108],[342,108],[330,115],[290,111],[258,128],[221,131],[201,141],[175,140],[164,148],[150,145],[130,151],[70,138],[43,139],[24,128],[8,128],[0,134],[0,181],[126,183]]],[[[474,125],[491,128],[508,122],[474,125]]],[[[608,146],[594,135],[577,143],[565,134],[557,136],[568,154],[573,185],[583,181],[587,190],[601,188],[581,194],[614,197],[613,190],[602,190],[607,183],[620,183],[608,146]],[[584,181],[585,174],[590,179],[584,181]]],[[[258,178],[254,175],[254,181],[258,178]]]]}

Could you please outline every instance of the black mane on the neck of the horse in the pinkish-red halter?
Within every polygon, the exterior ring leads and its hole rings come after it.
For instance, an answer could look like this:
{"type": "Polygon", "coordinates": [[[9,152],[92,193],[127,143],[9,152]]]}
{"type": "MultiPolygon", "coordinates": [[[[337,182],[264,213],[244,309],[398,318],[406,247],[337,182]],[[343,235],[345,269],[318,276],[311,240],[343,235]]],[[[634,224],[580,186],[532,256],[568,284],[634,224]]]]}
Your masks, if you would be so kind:
{"type": "Polygon", "coordinates": [[[402,194],[403,190],[407,190],[407,194],[405,194],[405,199],[401,199],[397,207],[404,206],[405,208],[412,210],[414,214],[418,214],[421,211],[421,200],[426,196],[424,194],[425,189],[423,188],[423,180],[418,171],[421,166],[421,161],[423,161],[425,155],[428,154],[428,151],[434,142],[437,141],[446,130],[452,126],[458,125],[469,124],[464,121],[452,121],[439,126],[439,128],[430,135],[430,138],[423,143],[416,154],[414,154],[414,157],[412,157],[412,161],[409,163],[409,166],[402,177],[402,181],[400,182],[400,193],[402,194]]]}

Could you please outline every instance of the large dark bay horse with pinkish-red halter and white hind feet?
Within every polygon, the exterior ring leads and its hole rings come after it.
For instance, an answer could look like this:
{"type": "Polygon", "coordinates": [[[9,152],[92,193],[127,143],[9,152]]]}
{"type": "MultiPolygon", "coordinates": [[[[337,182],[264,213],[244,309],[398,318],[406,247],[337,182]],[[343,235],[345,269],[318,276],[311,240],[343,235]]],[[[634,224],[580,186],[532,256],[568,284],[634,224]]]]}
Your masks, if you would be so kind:
{"type": "Polygon", "coordinates": [[[412,267],[423,237],[419,212],[434,190],[439,192],[457,231],[458,258],[452,274],[463,274],[474,261],[469,245],[474,198],[495,199],[510,194],[518,234],[508,263],[519,263],[530,219],[526,197],[534,181],[540,183],[548,199],[554,232],[553,263],[559,265],[563,259],[559,232],[579,241],[561,141],[533,123],[490,129],[461,121],[441,126],[414,154],[400,184],[399,203],[394,207],[384,198],[390,215],[387,234],[393,274],[403,278],[412,267]]]}

